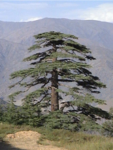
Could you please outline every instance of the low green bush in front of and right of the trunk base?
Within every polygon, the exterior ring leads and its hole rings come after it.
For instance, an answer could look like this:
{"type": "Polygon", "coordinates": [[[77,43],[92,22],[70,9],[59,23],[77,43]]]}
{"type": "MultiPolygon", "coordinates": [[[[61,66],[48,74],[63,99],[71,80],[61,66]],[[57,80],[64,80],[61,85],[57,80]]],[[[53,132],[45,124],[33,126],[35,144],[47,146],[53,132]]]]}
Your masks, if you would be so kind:
{"type": "Polygon", "coordinates": [[[90,117],[83,114],[51,112],[46,116],[44,127],[47,129],[65,129],[70,131],[93,132],[100,130],[100,126],[90,117]]]}

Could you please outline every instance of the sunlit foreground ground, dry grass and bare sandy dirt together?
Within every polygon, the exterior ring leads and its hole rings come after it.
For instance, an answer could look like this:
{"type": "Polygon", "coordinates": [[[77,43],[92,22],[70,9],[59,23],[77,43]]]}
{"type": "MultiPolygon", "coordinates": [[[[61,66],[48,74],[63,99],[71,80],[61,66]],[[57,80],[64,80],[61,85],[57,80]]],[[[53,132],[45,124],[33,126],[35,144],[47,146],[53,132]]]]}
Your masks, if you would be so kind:
{"type": "Polygon", "coordinates": [[[67,130],[47,130],[2,123],[0,137],[6,137],[5,140],[13,147],[27,150],[113,150],[113,138],[67,130]]]}

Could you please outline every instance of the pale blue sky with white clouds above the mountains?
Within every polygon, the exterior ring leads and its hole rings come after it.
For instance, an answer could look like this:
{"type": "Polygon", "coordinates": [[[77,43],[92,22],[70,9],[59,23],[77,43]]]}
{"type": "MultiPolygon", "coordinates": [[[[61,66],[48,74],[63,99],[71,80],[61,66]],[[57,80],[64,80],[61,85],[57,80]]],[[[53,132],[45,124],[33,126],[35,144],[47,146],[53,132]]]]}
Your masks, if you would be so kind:
{"type": "Polygon", "coordinates": [[[45,17],[113,22],[113,0],[0,0],[1,21],[45,17]]]}

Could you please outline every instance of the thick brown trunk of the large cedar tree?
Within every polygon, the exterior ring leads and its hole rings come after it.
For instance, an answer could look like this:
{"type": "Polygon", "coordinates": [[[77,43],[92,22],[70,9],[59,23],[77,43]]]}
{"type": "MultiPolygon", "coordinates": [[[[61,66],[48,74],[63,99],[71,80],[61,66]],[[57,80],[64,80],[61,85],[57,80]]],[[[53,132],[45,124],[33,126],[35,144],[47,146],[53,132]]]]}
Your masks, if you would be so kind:
{"type": "MultiPolygon", "coordinates": [[[[53,58],[52,62],[55,62],[57,58],[53,58]]],[[[59,101],[58,101],[58,73],[56,68],[52,71],[52,80],[51,80],[51,111],[59,110],[59,101]]]]}

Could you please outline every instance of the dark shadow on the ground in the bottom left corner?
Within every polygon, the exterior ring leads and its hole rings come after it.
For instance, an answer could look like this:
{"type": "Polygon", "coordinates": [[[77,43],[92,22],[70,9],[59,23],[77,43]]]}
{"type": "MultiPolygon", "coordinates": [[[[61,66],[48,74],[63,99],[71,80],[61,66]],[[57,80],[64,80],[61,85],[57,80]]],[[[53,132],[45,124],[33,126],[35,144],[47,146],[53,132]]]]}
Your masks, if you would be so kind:
{"type": "Polygon", "coordinates": [[[0,141],[0,150],[25,150],[25,149],[20,149],[20,148],[12,147],[7,142],[1,140],[0,141]]]}

